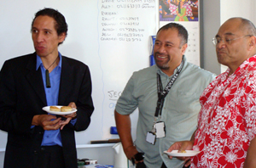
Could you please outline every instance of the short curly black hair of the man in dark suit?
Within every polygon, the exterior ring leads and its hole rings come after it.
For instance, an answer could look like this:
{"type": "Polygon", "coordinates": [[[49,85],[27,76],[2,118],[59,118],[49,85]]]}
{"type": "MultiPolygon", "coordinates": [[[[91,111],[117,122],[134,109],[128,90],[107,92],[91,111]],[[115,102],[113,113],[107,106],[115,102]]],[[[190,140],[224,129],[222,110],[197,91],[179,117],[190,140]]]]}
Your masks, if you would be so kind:
{"type": "MultiPolygon", "coordinates": [[[[57,31],[58,36],[60,36],[61,33],[65,33],[67,36],[67,22],[63,14],[61,14],[58,10],[55,10],[53,8],[44,8],[39,10],[35,14],[35,18],[32,20],[32,26],[38,16],[49,16],[53,18],[55,20],[55,30],[57,31]]],[[[60,42],[59,44],[61,43],[62,42],[60,42]]]]}

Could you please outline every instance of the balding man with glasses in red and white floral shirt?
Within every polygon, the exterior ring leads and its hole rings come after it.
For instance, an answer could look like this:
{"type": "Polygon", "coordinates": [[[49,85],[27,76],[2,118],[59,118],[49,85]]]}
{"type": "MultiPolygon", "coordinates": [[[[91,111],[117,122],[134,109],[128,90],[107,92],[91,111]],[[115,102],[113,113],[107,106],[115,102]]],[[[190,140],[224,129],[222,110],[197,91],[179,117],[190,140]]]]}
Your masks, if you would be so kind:
{"type": "Polygon", "coordinates": [[[190,141],[174,143],[168,149],[201,151],[185,166],[256,167],[255,36],[251,21],[231,18],[212,39],[218,62],[229,69],[202,93],[198,126],[190,141]]]}

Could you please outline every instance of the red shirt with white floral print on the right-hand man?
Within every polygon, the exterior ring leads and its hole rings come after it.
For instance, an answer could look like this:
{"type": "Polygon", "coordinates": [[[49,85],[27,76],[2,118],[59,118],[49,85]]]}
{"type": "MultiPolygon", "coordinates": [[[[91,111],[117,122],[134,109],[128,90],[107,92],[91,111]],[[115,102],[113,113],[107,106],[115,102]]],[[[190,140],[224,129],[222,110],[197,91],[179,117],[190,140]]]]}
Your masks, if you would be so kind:
{"type": "Polygon", "coordinates": [[[240,168],[256,134],[256,55],[219,75],[202,93],[191,167],[240,168]]]}

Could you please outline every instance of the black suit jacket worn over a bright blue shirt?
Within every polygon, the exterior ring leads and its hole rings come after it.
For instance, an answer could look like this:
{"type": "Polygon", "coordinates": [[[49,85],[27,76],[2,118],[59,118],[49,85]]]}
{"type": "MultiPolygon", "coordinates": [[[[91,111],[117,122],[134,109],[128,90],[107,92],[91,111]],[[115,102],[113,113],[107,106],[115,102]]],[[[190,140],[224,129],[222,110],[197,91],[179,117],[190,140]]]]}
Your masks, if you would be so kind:
{"type": "MultiPolygon", "coordinates": [[[[77,105],[77,122],[61,130],[65,165],[77,168],[74,131],[84,131],[94,110],[90,70],[87,65],[62,56],[59,105],[77,105]]],[[[4,167],[35,167],[44,129],[31,129],[34,115],[47,114],[44,83],[36,70],[36,53],[9,59],[0,72],[0,129],[8,132],[4,167]],[[33,161],[34,160],[34,161],[33,161]]]]}

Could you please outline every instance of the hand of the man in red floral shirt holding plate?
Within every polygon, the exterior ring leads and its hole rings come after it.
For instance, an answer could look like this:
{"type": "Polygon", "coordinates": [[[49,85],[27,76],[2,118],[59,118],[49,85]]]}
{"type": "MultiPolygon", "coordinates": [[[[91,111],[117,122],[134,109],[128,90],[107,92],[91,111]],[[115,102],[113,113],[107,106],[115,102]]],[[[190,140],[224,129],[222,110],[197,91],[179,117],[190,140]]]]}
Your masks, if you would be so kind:
{"type": "MultiPolygon", "coordinates": [[[[172,152],[172,150],[178,150],[178,152],[181,152],[183,150],[191,150],[193,148],[193,143],[191,141],[181,141],[177,143],[173,143],[170,148],[168,148],[167,152],[172,152]]],[[[172,159],[172,156],[169,156],[170,159],[172,159]]],[[[190,157],[177,157],[179,160],[184,160],[186,164],[184,165],[187,167],[190,165],[190,157]]]]}

